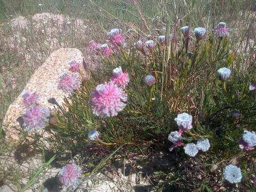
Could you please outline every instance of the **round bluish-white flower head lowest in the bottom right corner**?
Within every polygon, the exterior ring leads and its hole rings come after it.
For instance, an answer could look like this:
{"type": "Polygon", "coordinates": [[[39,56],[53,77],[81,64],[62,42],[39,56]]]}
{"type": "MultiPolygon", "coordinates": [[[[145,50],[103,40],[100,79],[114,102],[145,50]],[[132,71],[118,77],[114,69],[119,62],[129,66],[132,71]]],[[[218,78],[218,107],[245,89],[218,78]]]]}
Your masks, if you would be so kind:
{"type": "Polygon", "coordinates": [[[235,165],[228,165],[223,171],[224,178],[230,183],[238,183],[242,180],[241,169],[235,165]]]}

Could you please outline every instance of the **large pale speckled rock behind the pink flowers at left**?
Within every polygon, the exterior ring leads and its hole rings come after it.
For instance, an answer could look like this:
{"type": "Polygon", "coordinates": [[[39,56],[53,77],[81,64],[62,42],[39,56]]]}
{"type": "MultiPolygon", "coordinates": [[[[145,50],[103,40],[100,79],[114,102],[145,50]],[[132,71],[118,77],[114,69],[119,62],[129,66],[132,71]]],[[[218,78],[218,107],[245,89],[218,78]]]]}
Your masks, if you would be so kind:
{"type": "MultiPolygon", "coordinates": [[[[83,69],[83,55],[78,49],[65,48],[54,51],[31,76],[23,91],[36,92],[40,97],[39,104],[43,107],[53,108],[53,104],[48,101],[51,98],[55,98],[61,104],[67,93],[58,89],[59,76],[68,71],[69,61],[73,59],[77,60],[81,69],[83,69]]],[[[25,109],[22,96],[19,95],[10,105],[4,117],[3,125],[6,139],[19,140],[19,132],[22,128],[17,119],[22,116],[25,109]]]]}

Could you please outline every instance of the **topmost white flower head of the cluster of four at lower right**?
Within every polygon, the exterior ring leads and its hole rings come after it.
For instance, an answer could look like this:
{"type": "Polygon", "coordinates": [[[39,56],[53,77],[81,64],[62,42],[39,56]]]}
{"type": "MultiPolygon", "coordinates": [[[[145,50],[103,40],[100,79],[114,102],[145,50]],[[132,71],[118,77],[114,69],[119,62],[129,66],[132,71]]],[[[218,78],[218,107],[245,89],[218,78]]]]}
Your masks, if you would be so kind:
{"type": "Polygon", "coordinates": [[[178,114],[178,116],[174,118],[174,121],[177,123],[181,131],[186,131],[193,128],[192,119],[193,117],[191,115],[187,113],[182,113],[178,114]]]}

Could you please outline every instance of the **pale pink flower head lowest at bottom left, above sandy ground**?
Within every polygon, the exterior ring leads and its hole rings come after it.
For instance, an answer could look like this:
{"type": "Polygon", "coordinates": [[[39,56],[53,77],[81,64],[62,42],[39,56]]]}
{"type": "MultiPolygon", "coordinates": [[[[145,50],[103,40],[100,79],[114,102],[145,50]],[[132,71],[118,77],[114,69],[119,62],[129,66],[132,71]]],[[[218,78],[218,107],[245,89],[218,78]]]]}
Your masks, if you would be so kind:
{"type": "Polygon", "coordinates": [[[77,187],[81,176],[81,168],[74,163],[63,166],[59,172],[60,182],[66,187],[77,187]]]}

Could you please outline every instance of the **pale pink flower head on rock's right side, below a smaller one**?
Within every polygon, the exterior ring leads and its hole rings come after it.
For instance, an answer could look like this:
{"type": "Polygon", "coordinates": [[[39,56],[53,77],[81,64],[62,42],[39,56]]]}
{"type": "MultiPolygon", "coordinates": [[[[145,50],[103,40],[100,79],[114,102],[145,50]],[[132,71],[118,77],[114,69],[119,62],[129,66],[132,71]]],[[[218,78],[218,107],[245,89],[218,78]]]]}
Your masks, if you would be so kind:
{"type": "Polygon", "coordinates": [[[65,73],[60,76],[59,89],[66,93],[72,93],[77,90],[81,84],[81,80],[77,73],[65,73]]]}

